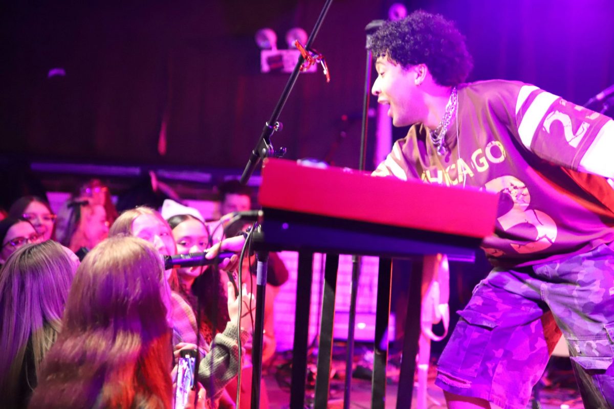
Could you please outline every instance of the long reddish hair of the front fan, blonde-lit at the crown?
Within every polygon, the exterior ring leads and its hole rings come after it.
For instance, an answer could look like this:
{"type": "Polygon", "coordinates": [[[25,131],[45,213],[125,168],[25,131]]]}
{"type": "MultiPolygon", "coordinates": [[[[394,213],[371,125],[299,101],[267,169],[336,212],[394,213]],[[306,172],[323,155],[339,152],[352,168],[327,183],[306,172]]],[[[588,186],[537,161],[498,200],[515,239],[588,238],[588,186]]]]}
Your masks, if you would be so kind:
{"type": "Polygon", "coordinates": [[[32,408],[169,408],[171,332],[157,251],[112,237],[77,269],[32,408]]]}

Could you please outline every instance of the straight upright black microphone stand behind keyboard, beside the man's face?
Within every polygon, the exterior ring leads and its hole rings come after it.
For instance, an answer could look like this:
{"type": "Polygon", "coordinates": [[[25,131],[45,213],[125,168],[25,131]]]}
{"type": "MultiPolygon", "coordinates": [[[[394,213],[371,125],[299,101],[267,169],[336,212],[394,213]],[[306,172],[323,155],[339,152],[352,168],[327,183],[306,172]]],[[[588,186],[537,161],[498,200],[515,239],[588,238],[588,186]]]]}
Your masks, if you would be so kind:
{"type": "MultiPolygon", "coordinates": [[[[365,27],[367,31],[367,60],[365,64],[365,94],[362,105],[362,129],[360,130],[360,158],[358,169],[365,170],[365,159],[367,156],[367,130],[369,99],[371,95],[371,66],[373,65],[373,54],[368,47],[371,43],[371,35],[384,24],[384,20],[373,20],[365,27]]],[[[348,348],[346,350],[346,377],[343,389],[343,409],[349,409],[350,392],[352,383],[352,366],[354,359],[354,326],[356,326],[356,298],[358,296],[358,283],[360,278],[360,256],[352,256],[352,289],[350,292],[349,314],[348,314],[348,348]]]]}

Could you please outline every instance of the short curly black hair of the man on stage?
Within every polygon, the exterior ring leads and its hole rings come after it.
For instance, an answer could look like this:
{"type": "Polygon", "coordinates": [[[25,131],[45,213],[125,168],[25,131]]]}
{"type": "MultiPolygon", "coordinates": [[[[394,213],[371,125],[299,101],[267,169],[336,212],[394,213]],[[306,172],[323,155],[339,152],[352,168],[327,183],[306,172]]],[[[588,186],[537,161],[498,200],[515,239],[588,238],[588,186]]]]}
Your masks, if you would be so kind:
{"type": "Polygon", "coordinates": [[[387,21],[373,34],[368,48],[403,67],[426,64],[435,82],[444,86],[464,82],[473,68],[465,37],[454,23],[423,10],[387,21]]]}

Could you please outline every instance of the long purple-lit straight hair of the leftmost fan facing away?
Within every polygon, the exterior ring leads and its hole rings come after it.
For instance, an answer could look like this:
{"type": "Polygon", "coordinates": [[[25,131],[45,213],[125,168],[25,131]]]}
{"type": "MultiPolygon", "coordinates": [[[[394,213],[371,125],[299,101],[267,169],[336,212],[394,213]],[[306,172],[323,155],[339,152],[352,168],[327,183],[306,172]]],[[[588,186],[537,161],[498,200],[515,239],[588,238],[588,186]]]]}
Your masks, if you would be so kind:
{"type": "Polygon", "coordinates": [[[36,387],[34,374],[61,330],[75,267],[48,240],[15,251],[0,270],[0,396],[6,407],[20,407],[36,387]]]}

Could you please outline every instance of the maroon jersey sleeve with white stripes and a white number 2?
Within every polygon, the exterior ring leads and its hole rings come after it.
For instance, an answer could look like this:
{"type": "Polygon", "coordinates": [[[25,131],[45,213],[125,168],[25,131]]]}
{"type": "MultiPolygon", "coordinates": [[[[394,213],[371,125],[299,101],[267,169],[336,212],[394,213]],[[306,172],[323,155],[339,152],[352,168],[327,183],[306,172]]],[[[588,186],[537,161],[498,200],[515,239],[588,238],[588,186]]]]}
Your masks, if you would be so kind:
{"type": "Polygon", "coordinates": [[[539,158],[567,169],[614,177],[614,161],[608,158],[614,151],[612,118],[533,85],[520,87],[515,114],[519,142],[539,158]]]}

